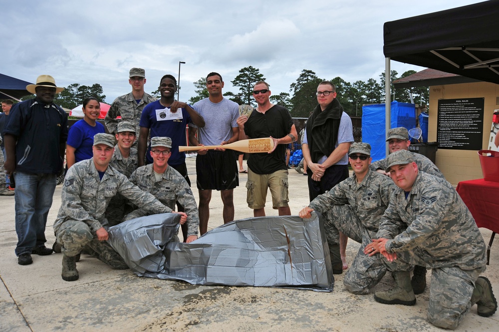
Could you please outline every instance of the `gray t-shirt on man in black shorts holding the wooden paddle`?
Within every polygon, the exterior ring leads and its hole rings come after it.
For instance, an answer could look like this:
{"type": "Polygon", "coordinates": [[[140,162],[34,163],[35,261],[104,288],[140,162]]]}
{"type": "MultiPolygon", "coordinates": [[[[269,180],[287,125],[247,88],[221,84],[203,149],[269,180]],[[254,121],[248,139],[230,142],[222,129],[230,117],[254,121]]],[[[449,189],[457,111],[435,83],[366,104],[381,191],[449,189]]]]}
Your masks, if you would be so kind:
{"type": "Polygon", "coordinates": [[[232,128],[238,127],[237,103],[226,98],[220,103],[212,103],[209,98],[205,98],[192,105],[192,108],[205,119],[205,127],[198,129],[199,143],[220,145],[231,139],[232,128]]]}

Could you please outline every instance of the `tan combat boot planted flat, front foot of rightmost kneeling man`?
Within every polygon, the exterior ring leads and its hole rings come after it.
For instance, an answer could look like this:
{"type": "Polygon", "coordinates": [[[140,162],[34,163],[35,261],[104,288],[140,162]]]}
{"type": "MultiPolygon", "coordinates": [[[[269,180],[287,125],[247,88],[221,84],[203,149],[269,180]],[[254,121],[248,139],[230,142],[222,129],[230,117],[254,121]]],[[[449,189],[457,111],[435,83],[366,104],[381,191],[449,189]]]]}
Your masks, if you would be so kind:
{"type": "Polygon", "coordinates": [[[397,286],[386,292],[376,292],[374,300],[384,304],[401,304],[404,306],[414,306],[416,296],[411,286],[411,274],[409,272],[394,272],[397,286]]]}

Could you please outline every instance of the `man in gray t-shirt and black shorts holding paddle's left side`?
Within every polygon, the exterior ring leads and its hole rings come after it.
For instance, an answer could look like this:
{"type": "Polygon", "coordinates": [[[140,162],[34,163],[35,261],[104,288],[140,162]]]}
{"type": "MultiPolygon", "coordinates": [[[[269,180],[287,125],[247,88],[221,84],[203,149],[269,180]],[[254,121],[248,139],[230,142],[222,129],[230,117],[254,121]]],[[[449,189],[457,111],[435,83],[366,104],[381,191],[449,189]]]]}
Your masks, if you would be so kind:
{"type": "MultiPolygon", "coordinates": [[[[206,77],[209,97],[192,107],[205,119],[204,128],[190,125],[189,142],[193,146],[225,145],[238,141],[239,105],[222,95],[224,81],[219,73],[206,77]],[[197,134],[197,137],[196,137],[197,134]]],[[[234,188],[239,185],[236,154],[233,150],[199,150],[196,157],[199,190],[199,230],[208,231],[212,190],[220,190],[224,203],[224,223],[234,220],[234,188]]]]}

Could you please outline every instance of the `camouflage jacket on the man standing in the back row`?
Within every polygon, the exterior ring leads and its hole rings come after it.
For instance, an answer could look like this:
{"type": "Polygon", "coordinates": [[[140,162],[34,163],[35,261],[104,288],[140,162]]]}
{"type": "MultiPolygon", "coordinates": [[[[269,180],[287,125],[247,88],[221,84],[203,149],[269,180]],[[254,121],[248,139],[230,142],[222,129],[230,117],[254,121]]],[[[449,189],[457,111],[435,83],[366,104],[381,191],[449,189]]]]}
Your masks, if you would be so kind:
{"type": "Polygon", "coordinates": [[[156,97],[153,97],[145,92],[138,104],[131,92],[116,98],[111,104],[111,108],[109,108],[109,111],[104,119],[107,130],[109,130],[112,134],[116,134],[116,130],[118,128],[118,120],[116,117],[121,116],[121,121],[128,121],[135,124],[135,134],[137,136],[137,140],[135,142],[137,142],[139,140],[139,123],[142,110],[147,104],[156,100],[158,100],[156,97]]]}

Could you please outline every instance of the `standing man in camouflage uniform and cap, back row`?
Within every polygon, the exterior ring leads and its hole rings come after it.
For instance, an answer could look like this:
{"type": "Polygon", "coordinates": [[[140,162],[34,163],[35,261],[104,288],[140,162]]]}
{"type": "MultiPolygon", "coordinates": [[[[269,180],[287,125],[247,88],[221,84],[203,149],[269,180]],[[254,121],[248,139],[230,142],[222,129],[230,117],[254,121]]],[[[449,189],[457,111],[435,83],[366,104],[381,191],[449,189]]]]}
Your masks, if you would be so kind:
{"type": "MultiPolygon", "coordinates": [[[[147,104],[156,101],[157,98],[144,92],[144,84],[146,84],[146,71],[144,69],[130,69],[128,83],[132,86],[132,92],[119,96],[114,100],[106,114],[104,122],[109,133],[113,135],[116,134],[116,130],[118,129],[119,121],[116,119],[117,117],[121,117],[121,121],[133,123],[138,140],[142,111],[147,104]]],[[[134,146],[137,146],[137,144],[134,143],[134,146]]]]}

